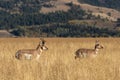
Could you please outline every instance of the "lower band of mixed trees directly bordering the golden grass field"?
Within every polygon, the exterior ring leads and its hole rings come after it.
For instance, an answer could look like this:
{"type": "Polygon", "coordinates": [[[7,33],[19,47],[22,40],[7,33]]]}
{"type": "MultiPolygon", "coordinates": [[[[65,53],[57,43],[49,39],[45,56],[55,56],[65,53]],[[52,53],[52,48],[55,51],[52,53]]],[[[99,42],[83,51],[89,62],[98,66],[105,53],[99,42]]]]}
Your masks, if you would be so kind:
{"type": "Polygon", "coordinates": [[[96,28],[85,25],[54,24],[49,26],[31,26],[19,28],[11,32],[17,36],[27,37],[120,37],[120,31],[107,28],[96,28]]]}

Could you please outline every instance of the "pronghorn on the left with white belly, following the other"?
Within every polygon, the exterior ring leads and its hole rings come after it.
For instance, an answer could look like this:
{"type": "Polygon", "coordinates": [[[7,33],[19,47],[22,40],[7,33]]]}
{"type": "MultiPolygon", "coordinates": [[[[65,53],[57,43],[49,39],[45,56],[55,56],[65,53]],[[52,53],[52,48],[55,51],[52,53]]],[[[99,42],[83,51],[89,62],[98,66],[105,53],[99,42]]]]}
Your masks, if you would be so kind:
{"type": "Polygon", "coordinates": [[[40,39],[40,42],[36,49],[21,49],[18,50],[15,54],[15,57],[19,60],[21,59],[33,59],[36,58],[37,60],[39,59],[42,51],[48,50],[48,48],[45,46],[45,40],[40,39]]]}

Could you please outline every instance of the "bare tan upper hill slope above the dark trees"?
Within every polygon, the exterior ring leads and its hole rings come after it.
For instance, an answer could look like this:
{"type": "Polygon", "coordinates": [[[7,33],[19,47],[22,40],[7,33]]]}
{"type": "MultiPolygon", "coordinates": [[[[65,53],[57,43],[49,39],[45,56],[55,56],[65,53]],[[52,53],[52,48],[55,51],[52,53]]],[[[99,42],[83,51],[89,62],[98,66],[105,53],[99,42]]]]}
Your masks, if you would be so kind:
{"type": "Polygon", "coordinates": [[[102,18],[107,18],[112,21],[116,21],[117,18],[120,18],[120,12],[115,9],[100,7],[100,6],[98,7],[98,6],[93,6],[85,3],[79,3],[77,0],[50,1],[49,3],[54,6],[51,8],[42,7],[40,12],[49,13],[49,12],[55,12],[59,10],[68,11],[70,7],[67,6],[66,3],[70,3],[70,2],[76,5],[80,5],[83,10],[90,11],[95,16],[101,16],[102,18]]]}

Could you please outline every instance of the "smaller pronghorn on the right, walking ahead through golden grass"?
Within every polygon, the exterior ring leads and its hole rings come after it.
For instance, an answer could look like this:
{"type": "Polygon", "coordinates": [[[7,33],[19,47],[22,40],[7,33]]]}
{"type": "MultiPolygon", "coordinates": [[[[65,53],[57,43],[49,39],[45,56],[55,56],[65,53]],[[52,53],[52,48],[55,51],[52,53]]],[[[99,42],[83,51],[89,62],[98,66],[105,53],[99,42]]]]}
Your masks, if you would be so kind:
{"type": "Polygon", "coordinates": [[[80,48],[75,52],[75,59],[84,57],[96,57],[99,49],[103,49],[103,46],[99,44],[97,40],[94,49],[80,48]]]}

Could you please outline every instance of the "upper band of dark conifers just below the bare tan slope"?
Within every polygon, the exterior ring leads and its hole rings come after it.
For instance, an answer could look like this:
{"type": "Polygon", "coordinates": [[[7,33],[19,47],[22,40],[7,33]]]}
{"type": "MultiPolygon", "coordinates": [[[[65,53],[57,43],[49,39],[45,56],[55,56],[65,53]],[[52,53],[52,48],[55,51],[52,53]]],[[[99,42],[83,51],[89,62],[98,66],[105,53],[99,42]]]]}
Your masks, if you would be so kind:
{"type": "Polygon", "coordinates": [[[0,11],[0,29],[13,29],[17,26],[41,25],[53,22],[67,22],[72,19],[83,19],[85,15],[85,11],[77,5],[71,6],[71,9],[68,12],[56,11],[47,14],[10,14],[5,11],[0,11]]]}

